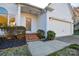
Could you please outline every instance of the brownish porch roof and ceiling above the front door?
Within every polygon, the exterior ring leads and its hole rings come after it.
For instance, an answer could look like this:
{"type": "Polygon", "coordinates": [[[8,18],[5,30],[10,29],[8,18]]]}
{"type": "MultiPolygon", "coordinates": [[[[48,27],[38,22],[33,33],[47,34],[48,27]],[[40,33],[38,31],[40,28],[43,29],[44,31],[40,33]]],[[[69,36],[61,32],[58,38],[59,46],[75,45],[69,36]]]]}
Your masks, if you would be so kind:
{"type": "Polygon", "coordinates": [[[26,12],[34,15],[39,15],[44,11],[42,8],[27,4],[27,3],[17,3],[17,5],[21,6],[21,12],[23,13],[26,12]]]}

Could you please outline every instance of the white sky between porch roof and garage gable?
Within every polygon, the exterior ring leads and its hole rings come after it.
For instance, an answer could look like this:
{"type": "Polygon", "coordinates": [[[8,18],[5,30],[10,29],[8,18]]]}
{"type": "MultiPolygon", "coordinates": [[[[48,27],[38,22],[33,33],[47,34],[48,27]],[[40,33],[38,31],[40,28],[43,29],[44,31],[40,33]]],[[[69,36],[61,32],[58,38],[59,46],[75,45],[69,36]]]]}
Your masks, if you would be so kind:
{"type": "Polygon", "coordinates": [[[48,3],[53,3],[53,0],[28,0],[27,3],[40,8],[45,8],[48,3]]]}

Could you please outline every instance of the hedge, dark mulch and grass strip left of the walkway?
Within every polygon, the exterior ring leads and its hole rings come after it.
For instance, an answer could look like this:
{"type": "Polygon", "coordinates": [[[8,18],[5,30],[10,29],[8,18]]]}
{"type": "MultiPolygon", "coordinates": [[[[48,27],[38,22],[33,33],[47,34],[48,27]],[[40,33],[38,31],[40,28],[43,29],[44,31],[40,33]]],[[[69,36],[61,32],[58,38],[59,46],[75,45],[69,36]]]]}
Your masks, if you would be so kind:
{"type": "Polygon", "coordinates": [[[30,56],[23,26],[0,27],[0,56],[30,56]]]}

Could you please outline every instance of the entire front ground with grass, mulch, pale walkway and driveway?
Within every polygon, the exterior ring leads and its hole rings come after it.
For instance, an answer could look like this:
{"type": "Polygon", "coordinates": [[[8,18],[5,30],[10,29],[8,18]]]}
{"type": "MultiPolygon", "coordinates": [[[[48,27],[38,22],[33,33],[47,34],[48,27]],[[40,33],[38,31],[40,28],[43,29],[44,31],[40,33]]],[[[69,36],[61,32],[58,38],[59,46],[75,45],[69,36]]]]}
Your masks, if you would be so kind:
{"type": "Polygon", "coordinates": [[[45,42],[8,40],[0,45],[0,56],[79,56],[78,44],[79,36],[61,37],[45,42]]]}

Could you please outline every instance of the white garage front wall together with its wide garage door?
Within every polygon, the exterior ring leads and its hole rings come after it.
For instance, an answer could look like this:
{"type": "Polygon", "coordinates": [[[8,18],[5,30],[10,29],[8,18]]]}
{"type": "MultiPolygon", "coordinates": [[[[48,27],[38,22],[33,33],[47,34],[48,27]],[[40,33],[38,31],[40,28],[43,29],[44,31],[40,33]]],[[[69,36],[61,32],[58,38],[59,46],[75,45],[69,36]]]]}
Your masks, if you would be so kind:
{"type": "Polygon", "coordinates": [[[55,3],[52,5],[54,9],[52,12],[47,11],[47,31],[52,30],[56,32],[56,36],[67,36],[73,34],[73,20],[69,5],[66,3],[55,3]],[[68,21],[62,22],[58,20],[50,20],[49,17],[54,17],[59,20],[68,21]]]}

